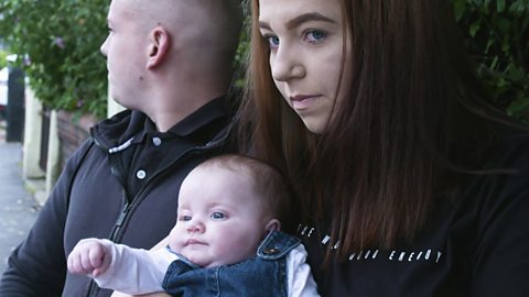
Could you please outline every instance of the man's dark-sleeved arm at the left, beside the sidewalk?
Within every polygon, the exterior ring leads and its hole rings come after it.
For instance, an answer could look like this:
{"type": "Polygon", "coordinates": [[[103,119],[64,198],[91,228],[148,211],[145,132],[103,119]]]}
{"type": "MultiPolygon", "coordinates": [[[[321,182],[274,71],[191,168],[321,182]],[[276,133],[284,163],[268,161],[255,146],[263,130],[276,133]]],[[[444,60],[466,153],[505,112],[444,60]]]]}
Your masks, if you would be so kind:
{"type": "Polygon", "coordinates": [[[78,163],[89,147],[86,142],[68,161],[28,238],[9,257],[0,296],[61,296],[66,275],[63,239],[68,195],[78,163]]]}

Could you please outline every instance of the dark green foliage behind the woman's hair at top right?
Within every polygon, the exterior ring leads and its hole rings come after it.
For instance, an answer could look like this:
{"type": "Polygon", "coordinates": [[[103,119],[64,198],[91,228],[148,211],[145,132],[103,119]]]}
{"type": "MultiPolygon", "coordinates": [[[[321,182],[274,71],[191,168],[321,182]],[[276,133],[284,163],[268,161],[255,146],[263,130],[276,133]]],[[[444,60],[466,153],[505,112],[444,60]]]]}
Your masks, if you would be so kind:
{"type": "Polygon", "coordinates": [[[452,0],[494,105],[529,122],[529,0],[452,0]]]}

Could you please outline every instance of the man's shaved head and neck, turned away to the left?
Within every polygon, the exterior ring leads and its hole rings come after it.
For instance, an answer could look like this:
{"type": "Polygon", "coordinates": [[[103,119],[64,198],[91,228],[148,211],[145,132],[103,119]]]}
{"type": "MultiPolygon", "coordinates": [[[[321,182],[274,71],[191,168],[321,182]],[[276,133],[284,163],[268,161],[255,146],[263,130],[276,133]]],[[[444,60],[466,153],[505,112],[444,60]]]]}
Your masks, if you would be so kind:
{"type": "Polygon", "coordinates": [[[241,14],[240,0],[112,0],[110,95],[166,131],[228,90],[241,14]]]}

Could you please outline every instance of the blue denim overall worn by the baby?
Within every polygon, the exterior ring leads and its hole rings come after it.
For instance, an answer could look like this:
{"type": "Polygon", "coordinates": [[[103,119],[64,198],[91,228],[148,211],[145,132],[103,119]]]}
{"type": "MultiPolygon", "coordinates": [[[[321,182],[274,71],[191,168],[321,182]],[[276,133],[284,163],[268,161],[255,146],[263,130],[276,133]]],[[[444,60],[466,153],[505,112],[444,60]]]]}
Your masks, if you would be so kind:
{"type": "Polygon", "coordinates": [[[287,255],[299,244],[299,239],[272,231],[256,256],[212,268],[201,268],[179,255],[162,287],[172,296],[287,297],[287,255]]]}

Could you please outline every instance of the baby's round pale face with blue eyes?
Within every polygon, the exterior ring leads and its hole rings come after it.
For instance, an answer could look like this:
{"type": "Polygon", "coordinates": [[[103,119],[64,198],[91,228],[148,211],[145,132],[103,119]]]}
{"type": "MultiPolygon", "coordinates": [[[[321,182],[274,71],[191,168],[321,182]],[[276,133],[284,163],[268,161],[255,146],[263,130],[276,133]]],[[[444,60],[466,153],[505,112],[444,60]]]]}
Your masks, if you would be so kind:
{"type": "Polygon", "coordinates": [[[182,183],[170,248],[201,267],[251,257],[270,220],[245,172],[207,166],[182,183]]]}

